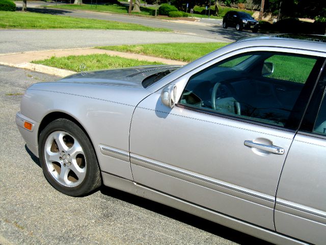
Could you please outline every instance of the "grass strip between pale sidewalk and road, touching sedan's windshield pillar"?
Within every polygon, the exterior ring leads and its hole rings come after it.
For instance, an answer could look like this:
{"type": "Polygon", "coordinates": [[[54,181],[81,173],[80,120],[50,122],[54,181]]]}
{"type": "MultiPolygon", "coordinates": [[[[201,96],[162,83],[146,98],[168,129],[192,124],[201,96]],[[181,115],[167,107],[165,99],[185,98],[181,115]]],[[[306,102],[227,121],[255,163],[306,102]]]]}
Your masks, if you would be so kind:
{"type": "Polygon", "coordinates": [[[141,55],[160,57],[170,60],[191,62],[220,47],[225,46],[225,42],[209,43],[160,43],[143,45],[120,45],[102,46],[103,50],[113,50],[141,55]]]}

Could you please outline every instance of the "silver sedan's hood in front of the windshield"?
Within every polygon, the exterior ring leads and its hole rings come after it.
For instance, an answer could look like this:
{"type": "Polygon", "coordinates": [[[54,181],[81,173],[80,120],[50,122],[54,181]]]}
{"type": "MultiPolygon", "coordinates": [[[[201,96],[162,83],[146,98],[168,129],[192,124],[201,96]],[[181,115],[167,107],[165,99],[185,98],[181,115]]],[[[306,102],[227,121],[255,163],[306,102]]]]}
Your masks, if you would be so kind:
{"type": "Polygon", "coordinates": [[[130,68],[83,71],[58,80],[65,83],[89,83],[123,87],[143,87],[142,81],[157,72],[177,69],[179,65],[151,65],[130,68]]]}

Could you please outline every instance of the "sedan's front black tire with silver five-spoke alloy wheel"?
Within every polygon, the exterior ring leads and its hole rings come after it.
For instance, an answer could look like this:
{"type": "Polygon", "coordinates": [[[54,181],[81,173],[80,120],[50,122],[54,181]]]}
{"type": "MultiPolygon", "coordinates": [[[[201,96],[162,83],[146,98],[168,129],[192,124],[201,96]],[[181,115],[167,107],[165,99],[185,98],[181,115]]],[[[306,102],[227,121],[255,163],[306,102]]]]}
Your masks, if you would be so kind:
{"type": "Polygon", "coordinates": [[[68,119],[54,120],[42,130],[39,157],[47,181],[66,195],[80,197],[101,185],[93,145],[68,119]]]}

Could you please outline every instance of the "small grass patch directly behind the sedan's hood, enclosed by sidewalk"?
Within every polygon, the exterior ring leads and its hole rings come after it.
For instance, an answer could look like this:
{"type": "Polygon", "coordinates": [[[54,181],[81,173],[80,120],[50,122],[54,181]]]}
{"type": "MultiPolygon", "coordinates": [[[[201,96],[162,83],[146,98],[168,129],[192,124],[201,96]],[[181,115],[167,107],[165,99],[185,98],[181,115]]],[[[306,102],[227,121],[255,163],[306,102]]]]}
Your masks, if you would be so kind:
{"type": "Polygon", "coordinates": [[[47,65],[61,69],[80,71],[80,65],[85,64],[85,70],[113,69],[139,65],[159,65],[159,62],[126,59],[106,54],[80,55],[68,57],[51,57],[46,60],[32,61],[34,64],[47,65]]]}

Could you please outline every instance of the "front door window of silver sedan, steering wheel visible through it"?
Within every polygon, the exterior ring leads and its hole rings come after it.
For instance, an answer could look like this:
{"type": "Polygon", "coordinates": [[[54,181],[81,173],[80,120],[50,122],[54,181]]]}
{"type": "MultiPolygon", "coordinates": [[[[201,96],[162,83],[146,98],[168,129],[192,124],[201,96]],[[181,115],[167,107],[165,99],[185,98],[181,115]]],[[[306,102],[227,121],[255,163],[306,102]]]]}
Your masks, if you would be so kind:
{"type": "MultiPolygon", "coordinates": [[[[231,57],[193,75],[179,104],[284,128],[302,116],[301,98],[316,57],[251,52],[231,57]],[[295,108],[301,101],[300,108],[295,108]]],[[[306,103],[306,102],[305,102],[306,103]]],[[[204,112],[203,111],[203,112],[204,112]]]]}

